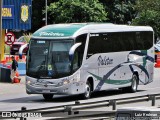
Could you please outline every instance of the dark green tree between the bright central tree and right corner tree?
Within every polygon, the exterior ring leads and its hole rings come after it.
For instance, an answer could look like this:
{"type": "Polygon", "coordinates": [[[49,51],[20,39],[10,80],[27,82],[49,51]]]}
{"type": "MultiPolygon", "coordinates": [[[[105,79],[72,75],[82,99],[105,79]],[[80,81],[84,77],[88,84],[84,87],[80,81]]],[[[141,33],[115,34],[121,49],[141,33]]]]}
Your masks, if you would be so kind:
{"type": "Polygon", "coordinates": [[[128,24],[135,18],[135,0],[99,0],[108,11],[109,22],[128,24]]]}

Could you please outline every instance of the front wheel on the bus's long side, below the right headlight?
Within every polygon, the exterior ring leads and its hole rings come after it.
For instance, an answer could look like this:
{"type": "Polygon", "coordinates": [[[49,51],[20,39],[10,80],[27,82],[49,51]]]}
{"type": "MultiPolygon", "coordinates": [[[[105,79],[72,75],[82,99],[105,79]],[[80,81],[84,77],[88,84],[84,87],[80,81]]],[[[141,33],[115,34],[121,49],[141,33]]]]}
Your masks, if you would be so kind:
{"type": "Polygon", "coordinates": [[[84,99],[88,99],[91,96],[91,84],[87,81],[85,86],[85,93],[83,94],[84,99]]]}

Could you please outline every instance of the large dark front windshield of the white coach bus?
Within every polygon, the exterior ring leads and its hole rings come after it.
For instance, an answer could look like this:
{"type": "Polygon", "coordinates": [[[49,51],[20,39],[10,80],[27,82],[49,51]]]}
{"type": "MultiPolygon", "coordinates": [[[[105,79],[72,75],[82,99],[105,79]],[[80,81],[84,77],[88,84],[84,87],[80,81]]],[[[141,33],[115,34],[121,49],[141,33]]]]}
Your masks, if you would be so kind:
{"type": "Polygon", "coordinates": [[[31,40],[27,75],[36,78],[60,78],[71,72],[69,50],[73,40],[31,40]]]}

